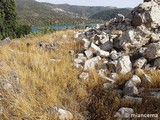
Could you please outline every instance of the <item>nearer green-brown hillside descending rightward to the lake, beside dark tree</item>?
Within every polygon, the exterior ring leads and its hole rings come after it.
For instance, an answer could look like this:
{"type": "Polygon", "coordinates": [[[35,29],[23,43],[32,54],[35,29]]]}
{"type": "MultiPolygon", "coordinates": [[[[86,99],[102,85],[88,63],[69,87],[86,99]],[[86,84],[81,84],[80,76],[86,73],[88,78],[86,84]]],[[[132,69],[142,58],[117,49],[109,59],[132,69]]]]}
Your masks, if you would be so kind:
{"type": "Polygon", "coordinates": [[[29,25],[53,25],[88,22],[87,19],[73,18],[67,13],[55,10],[35,0],[16,0],[17,21],[29,25]]]}

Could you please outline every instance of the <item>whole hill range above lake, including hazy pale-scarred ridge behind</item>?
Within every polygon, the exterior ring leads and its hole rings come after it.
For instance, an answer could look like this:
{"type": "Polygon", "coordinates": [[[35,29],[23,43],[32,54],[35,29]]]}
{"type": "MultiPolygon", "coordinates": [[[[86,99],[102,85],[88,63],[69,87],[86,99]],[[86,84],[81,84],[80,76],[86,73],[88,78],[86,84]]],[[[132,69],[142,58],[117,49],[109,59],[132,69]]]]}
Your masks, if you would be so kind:
{"type": "Polygon", "coordinates": [[[90,16],[115,7],[90,7],[69,4],[50,4],[35,0],[16,0],[17,20],[30,25],[86,23],[90,16]]]}

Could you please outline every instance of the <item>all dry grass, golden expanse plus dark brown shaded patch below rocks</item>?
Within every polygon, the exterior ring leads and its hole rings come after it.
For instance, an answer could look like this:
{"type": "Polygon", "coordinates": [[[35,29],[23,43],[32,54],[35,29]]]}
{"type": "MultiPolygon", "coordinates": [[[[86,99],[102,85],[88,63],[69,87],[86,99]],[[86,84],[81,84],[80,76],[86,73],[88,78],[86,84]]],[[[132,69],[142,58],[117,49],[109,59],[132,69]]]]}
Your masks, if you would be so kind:
{"type": "MultiPolygon", "coordinates": [[[[88,82],[78,79],[81,71],[73,67],[74,56],[71,57],[69,50],[79,51],[81,48],[81,43],[74,41],[72,30],[17,39],[8,45],[0,46],[0,61],[9,66],[0,67],[0,76],[10,70],[16,71],[23,89],[22,93],[16,96],[12,96],[11,92],[1,91],[1,94],[10,97],[5,101],[0,100],[0,105],[5,105],[6,109],[0,119],[56,120],[53,115],[47,114],[47,110],[53,106],[71,111],[74,120],[86,120],[82,114],[85,110],[92,112],[88,116],[90,120],[112,119],[121,106],[120,95],[100,88],[104,81],[98,77],[96,71],[89,73],[88,82]],[[64,34],[67,35],[65,39],[64,34]],[[46,50],[37,47],[39,41],[60,41],[64,44],[55,50],[46,50]],[[53,62],[50,60],[53,58],[61,61],[53,62]],[[16,102],[11,105],[14,99],[16,102]]],[[[159,72],[151,75],[159,82],[159,72]]],[[[130,77],[131,74],[119,75],[117,85],[124,84],[130,77]]]]}

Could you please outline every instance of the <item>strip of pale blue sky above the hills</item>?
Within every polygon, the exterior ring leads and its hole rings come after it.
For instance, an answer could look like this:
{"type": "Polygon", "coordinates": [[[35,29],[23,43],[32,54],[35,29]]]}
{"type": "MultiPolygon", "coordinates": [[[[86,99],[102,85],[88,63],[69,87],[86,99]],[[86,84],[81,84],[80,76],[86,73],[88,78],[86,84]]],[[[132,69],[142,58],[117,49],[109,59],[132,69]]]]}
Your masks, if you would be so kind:
{"type": "Polygon", "coordinates": [[[36,0],[39,2],[49,2],[54,4],[68,3],[71,5],[85,5],[85,6],[116,6],[123,7],[135,7],[143,0],[36,0]]]}

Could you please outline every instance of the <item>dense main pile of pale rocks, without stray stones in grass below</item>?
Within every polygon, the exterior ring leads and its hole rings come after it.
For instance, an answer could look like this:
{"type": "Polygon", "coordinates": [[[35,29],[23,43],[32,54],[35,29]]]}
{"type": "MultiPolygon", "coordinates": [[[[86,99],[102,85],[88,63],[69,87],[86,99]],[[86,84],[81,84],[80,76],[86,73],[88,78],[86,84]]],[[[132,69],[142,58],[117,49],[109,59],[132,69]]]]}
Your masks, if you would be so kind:
{"type": "Polygon", "coordinates": [[[77,33],[75,36],[83,36],[79,39],[83,41],[85,50],[81,54],[86,59],[78,59],[81,61],[78,64],[88,70],[104,63],[106,68],[122,74],[133,72],[135,68],[143,69],[147,65],[159,69],[158,16],[158,4],[154,1],[144,2],[132,11],[132,19],[119,14],[104,25],[77,33]]]}

